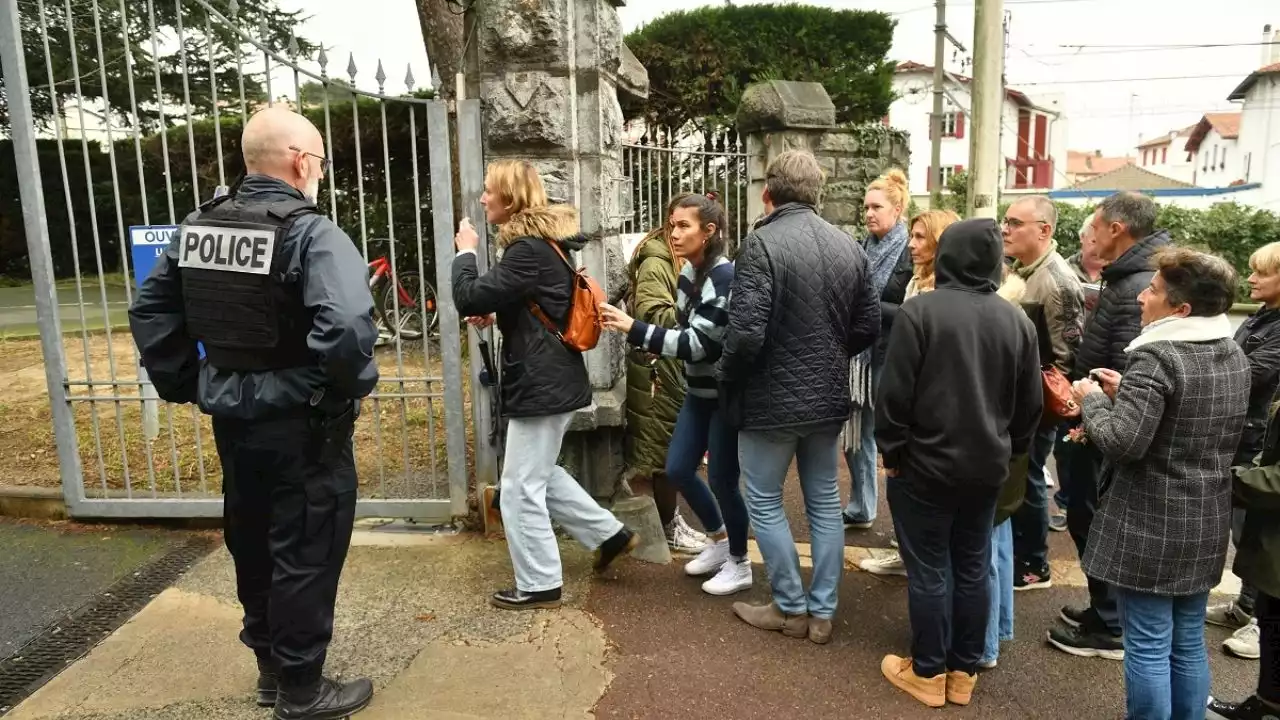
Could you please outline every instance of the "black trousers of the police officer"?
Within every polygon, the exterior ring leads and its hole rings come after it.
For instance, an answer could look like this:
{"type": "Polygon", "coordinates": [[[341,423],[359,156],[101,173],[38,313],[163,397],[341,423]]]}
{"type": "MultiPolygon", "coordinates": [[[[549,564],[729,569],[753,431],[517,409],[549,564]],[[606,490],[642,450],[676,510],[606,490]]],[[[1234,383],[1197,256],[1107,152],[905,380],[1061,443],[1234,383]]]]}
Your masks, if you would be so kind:
{"type": "Polygon", "coordinates": [[[356,519],[355,413],[214,420],[241,641],[285,687],[320,679],[356,519]]]}

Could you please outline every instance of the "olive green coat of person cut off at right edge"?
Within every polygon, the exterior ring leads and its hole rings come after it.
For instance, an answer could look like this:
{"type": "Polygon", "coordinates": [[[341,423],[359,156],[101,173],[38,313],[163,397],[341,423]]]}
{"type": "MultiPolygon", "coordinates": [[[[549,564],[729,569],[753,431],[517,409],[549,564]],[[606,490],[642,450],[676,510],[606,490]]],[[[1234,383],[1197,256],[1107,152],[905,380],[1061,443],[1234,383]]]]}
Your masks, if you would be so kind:
{"type": "Polygon", "coordinates": [[[1245,510],[1231,571],[1271,597],[1280,597],[1280,415],[1276,407],[1271,406],[1262,454],[1252,468],[1233,468],[1235,482],[1231,486],[1236,507],[1245,510]]]}

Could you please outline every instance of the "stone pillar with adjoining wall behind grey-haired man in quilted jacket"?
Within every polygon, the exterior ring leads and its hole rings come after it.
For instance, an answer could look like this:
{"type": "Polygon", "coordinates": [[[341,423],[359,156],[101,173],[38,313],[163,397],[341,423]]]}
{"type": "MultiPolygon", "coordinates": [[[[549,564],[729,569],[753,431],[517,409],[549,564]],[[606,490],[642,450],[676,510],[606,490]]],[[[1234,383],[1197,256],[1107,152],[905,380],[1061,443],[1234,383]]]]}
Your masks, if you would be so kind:
{"type": "Polygon", "coordinates": [[[748,214],[764,214],[764,172],[786,150],[809,150],[827,176],[819,214],[854,237],[863,233],[863,195],[881,173],[909,167],[906,133],[879,123],[837,126],[836,106],[815,82],[768,81],[742,94],[739,132],[746,136],[748,214]]]}

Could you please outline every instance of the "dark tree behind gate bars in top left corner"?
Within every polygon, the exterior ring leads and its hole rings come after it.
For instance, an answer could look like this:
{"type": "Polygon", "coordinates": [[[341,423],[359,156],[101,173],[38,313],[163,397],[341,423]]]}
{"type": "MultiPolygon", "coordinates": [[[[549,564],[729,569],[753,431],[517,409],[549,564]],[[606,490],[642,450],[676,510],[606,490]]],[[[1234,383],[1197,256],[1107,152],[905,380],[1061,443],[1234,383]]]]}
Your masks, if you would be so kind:
{"type": "MultiPolygon", "coordinates": [[[[227,20],[195,3],[182,0],[20,3],[19,23],[27,81],[37,124],[50,127],[50,120],[59,110],[69,100],[78,97],[91,108],[97,106],[101,100],[110,100],[111,120],[116,128],[137,123],[143,132],[150,132],[161,124],[161,102],[166,108],[166,124],[178,120],[172,114],[172,108],[183,105],[184,96],[189,96],[192,115],[197,118],[212,113],[215,88],[220,102],[238,108],[242,77],[246,99],[262,99],[262,54],[244,41],[239,35],[242,28],[278,53],[287,53],[285,49],[292,49],[294,44],[298,54],[316,50],[315,44],[294,36],[294,28],[303,19],[301,12],[280,10],[275,0],[215,3],[227,20]],[[180,44],[179,6],[183,26],[180,44]],[[243,60],[243,76],[237,70],[237,58],[243,60]],[[183,60],[187,68],[186,83],[183,60]],[[52,88],[49,82],[50,69],[52,88]],[[159,92],[156,73],[160,77],[159,92]],[[132,92],[137,99],[136,115],[129,101],[131,78],[132,92]]],[[[0,88],[0,95],[3,94],[4,90],[0,88]]],[[[8,104],[0,104],[0,128],[8,127],[8,104]]]]}

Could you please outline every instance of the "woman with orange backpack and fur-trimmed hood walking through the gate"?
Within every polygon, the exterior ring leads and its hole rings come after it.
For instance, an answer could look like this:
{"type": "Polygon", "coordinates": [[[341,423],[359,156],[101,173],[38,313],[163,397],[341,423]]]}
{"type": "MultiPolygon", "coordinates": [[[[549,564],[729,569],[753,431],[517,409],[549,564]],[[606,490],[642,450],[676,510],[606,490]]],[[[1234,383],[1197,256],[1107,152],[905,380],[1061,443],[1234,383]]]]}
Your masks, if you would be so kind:
{"type": "Polygon", "coordinates": [[[538,170],[522,160],[489,165],[480,204],[485,219],[499,228],[502,259],[479,274],[479,237],[463,218],[454,236],[453,300],[472,324],[497,322],[503,337],[500,397],[508,428],[499,502],[516,587],[495,592],[490,603],[506,610],[559,607],[563,577],[552,514],[573,539],[598,550],[596,571],[639,544],[635,533],[556,464],[573,411],[591,404],[582,354],[549,327],[562,331],[568,322],[568,252],[586,238],[579,233],[577,213],[550,205],[538,170]]]}

